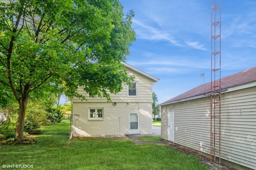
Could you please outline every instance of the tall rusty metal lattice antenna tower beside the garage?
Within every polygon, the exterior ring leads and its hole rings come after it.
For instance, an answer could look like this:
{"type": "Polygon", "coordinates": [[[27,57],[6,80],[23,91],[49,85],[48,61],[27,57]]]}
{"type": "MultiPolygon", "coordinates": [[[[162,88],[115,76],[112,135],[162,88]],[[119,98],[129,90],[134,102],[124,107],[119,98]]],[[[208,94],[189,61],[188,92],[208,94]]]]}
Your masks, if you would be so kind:
{"type": "Polygon", "coordinates": [[[220,134],[221,134],[221,44],[220,44],[220,14],[221,0],[212,0],[212,38],[211,38],[211,142],[210,161],[217,163],[216,156],[219,157],[220,164],[220,134]]]}

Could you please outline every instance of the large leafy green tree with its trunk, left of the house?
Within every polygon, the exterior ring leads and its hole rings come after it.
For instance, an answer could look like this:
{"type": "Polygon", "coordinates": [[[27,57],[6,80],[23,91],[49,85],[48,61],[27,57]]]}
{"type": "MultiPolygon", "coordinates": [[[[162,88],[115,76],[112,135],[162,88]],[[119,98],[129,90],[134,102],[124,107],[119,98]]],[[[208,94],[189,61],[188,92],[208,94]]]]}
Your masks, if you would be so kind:
{"type": "Polygon", "coordinates": [[[19,104],[15,140],[24,140],[29,96],[118,93],[128,77],[121,61],[135,40],[131,11],[118,0],[19,0],[0,8],[0,86],[19,104]],[[9,89],[9,90],[8,90],[9,89]]]}

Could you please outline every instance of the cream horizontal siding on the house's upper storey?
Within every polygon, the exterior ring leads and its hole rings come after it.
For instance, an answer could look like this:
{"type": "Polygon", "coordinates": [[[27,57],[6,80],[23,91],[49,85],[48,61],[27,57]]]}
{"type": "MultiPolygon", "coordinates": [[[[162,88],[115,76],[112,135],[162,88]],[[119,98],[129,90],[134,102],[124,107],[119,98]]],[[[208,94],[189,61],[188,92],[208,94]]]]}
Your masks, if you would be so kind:
{"type": "MultiPolygon", "coordinates": [[[[134,82],[138,83],[138,96],[137,97],[128,97],[127,96],[127,85],[123,84],[123,89],[116,95],[110,94],[110,98],[112,102],[152,102],[152,85],[155,83],[151,79],[135,72],[130,69],[127,69],[128,75],[134,75],[136,78],[134,82]]],[[[84,94],[86,96],[86,102],[107,102],[106,98],[100,97],[87,97],[87,93],[83,90],[83,88],[78,88],[78,92],[80,94],[84,94]]],[[[72,102],[85,102],[81,101],[78,98],[72,99],[72,102]]]]}

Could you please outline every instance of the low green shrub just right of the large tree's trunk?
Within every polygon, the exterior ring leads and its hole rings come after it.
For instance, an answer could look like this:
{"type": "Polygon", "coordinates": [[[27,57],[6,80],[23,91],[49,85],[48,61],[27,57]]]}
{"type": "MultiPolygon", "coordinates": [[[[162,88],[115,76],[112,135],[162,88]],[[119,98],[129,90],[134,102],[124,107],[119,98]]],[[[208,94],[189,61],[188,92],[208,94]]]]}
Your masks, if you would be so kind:
{"type": "Polygon", "coordinates": [[[40,123],[32,117],[32,115],[28,115],[24,122],[24,132],[29,134],[38,134],[41,133],[40,123]]]}

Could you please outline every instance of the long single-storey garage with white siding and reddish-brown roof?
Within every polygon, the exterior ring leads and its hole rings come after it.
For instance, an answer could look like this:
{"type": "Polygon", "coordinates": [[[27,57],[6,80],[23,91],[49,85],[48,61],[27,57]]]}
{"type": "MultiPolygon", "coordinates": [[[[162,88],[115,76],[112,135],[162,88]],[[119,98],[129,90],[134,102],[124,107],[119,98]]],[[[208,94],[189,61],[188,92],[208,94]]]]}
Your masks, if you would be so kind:
{"type": "MultiPolygon", "coordinates": [[[[210,86],[160,104],[163,139],[210,154],[210,86]]],[[[256,67],[222,78],[221,87],[222,163],[256,169],[256,67]]]]}

